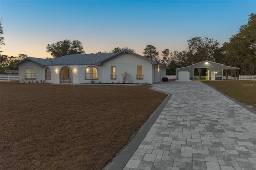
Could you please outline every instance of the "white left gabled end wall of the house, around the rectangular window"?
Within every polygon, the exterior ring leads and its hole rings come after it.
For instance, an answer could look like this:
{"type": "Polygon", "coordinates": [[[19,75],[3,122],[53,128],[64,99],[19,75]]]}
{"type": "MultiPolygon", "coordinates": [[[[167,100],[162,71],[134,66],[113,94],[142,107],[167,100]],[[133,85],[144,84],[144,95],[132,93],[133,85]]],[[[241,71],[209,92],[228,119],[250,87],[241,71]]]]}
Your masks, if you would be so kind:
{"type": "Polygon", "coordinates": [[[32,80],[26,80],[26,81],[24,80],[24,76],[26,75],[26,68],[36,68],[36,80],[33,80],[34,83],[36,83],[36,81],[40,83],[41,80],[42,81],[44,80],[45,67],[40,67],[37,63],[34,63],[32,61],[26,61],[19,65],[20,83],[23,83],[23,82],[28,83],[29,81],[32,83],[32,80]]]}

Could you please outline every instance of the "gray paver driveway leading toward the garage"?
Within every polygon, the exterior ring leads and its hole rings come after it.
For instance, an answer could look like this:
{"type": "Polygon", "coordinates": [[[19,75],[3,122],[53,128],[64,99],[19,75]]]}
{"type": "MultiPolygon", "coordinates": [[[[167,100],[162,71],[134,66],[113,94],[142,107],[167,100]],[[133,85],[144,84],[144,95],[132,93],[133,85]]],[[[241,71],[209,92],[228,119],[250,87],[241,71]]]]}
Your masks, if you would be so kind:
{"type": "MultiPolygon", "coordinates": [[[[256,170],[256,115],[196,81],[154,84],[172,94],[123,170],[256,170]]],[[[120,161],[122,162],[122,160],[120,161]]]]}

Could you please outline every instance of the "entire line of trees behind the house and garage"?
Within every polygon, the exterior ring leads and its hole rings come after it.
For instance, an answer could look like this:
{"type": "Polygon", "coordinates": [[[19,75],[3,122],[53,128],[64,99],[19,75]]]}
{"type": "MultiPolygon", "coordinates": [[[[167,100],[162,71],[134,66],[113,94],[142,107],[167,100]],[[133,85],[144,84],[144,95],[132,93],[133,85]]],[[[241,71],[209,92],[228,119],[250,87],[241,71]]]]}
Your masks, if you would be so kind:
{"type": "MultiPolygon", "coordinates": [[[[0,45],[4,45],[2,25],[0,25],[0,34],[0,45]]],[[[223,43],[222,47],[219,42],[207,37],[194,37],[187,42],[188,48],[183,51],[170,52],[168,48],[164,49],[161,52],[162,59],[159,57],[159,51],[153,45],[147,45],[143,53],[145,57],[170,67],[167,74],[175,74],[176,68],[186,67],[204,60],[239,67],[241,68],[240,74],[256,74],[256,14],[250,14],[248,23],[242,25],[238,33],[233,35],[229,42],[223,43]]],[[[98,51],[97,53],[117,53],[123,49],[135,52],[134,49],[128,47],[114,47],[112,51],[98,51]]],[[[0,52],[2,52],[1,49],[0,52]]],[[[82,43],[78,40],[63,40],[48,44],[46,52],[51,53],[53,58],[68,54],[85,54],[82,43]]],[[[11,65],[27,55],[19,54],[17,57],[13,57],[0,54],[0,57],[1,66],[14,69],[11,65]]],[[[200,69],[198,71],[200,72],[200,69]]]]}

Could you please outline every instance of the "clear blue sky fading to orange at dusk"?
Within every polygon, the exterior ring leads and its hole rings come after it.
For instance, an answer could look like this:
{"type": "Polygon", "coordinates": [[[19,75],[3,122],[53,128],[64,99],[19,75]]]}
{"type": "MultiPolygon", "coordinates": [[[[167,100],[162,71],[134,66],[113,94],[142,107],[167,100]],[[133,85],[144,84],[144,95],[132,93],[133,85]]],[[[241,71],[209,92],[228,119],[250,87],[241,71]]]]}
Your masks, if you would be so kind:
{"type": "Polygon", "coordinates": [[[86,53],[146,45],[182,51],[193,37],[222,43],[256,13],[256,1],[6,1],[0,0],[2,54],[51,57],[47,44],[79,40],[86,53]]]}

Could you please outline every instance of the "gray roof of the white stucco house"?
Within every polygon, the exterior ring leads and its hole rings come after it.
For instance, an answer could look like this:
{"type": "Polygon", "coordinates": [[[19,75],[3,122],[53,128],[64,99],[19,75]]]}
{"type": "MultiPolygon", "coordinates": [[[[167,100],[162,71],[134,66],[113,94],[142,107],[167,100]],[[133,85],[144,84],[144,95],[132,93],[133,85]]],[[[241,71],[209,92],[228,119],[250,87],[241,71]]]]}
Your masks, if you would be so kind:
{"type": "Polygon", "coordinates": [[[35,63],[38,63],[38,65],[42,67],[51,66],[51,65],[102,65],[104,61],[122,53],[130,53],[130,54],[136,55],[138,57],[141,57],[143,59],[150,61],[151,64],[160,65],[162,67],[165,67],[166,69],[169,69],[169,67],[161,63],[158,63],[142,55],[138,55],[127,49],[119,51],[118,53],[72,54],[72,55],[64,55],[62,57],[57,57],[54,59],[26,57],[25,59],[22,59],[18,63],[12,65],[12,67],[19,67],[19,65],[25,61],[33,61],[35,63]]]}

